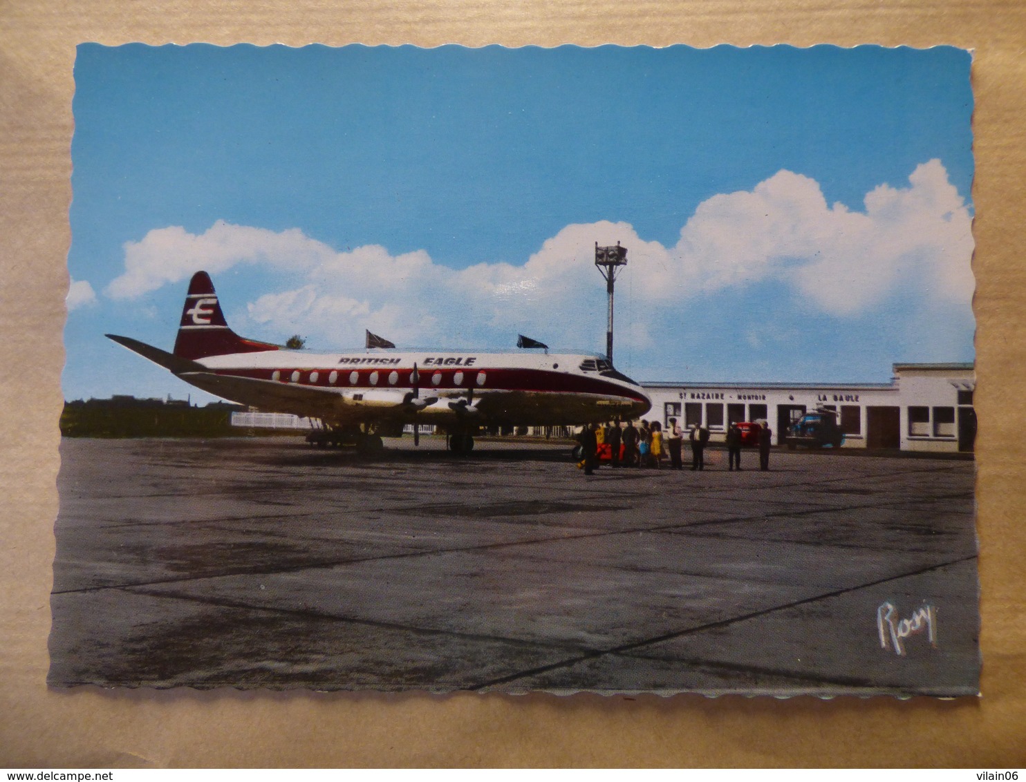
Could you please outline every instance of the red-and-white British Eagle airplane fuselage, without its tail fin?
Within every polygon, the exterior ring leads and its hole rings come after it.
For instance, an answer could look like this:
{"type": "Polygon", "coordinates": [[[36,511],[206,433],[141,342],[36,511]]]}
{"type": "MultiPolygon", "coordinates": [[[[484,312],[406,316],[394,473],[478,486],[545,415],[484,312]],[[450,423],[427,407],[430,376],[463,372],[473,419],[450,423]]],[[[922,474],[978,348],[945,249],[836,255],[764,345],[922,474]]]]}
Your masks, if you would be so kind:
{"type": "MultiPolygon", "coordinates": [[[[317,354],[268,351],[199,359],[219,378],[328,392],[316,414],[333,423],[379,419],[406,423],[559,425],[635,418],[650,407],[637,384],[619,372],[600,369],[594,356],[524,355],[482,352],[352,352],[317,354]],[[416,371],[416,374],[415,374],[416,371]],[[418,407],[407,399],[430,404],[418,407]],[[451,403],[467,401],[453,409],[451,403]]],[[[263,393],[232,394],[222,382],[192,373],[183,379],[218,396],[282,412],[307,408],[283,398],[269,403],[263,393]],[[192,375],[192,376],[190,376],[192,375]],[[230,395],[230,396],[228,396],[230,395]],[[247,397],[249,397],[247,399],[247,397]]]]}

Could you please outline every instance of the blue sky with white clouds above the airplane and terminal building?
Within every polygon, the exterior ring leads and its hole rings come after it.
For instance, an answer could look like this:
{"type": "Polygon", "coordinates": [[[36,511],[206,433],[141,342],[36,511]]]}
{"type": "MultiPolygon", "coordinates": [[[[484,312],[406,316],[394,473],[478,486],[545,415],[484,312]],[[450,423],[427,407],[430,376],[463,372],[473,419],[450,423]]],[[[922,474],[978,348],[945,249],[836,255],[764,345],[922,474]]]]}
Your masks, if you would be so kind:
{"type": "MultiPolygon", "coordinates": [[[[638,379],[972,361],[970,55],[79,46],[68,399],[189,386],[188,278],[246,336],[604,349],[638,379]]],[[[196,393],[193,399],[207,399],[196,393]]]]}

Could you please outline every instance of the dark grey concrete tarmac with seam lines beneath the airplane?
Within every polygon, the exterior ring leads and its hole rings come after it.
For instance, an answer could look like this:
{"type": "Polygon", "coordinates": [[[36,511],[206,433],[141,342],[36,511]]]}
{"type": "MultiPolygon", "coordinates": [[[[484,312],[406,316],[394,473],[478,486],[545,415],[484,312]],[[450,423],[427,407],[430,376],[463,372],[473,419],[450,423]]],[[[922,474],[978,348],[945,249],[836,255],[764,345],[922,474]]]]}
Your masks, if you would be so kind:
{"type": "Polygon", "coordinates": [[[565,444],[386,445],[65,439],[49,683],[978,690],[972,461],[586,477],[565,444]]]}

